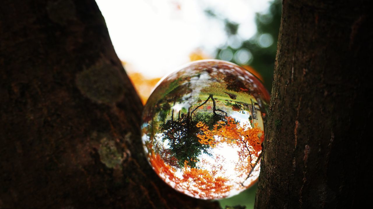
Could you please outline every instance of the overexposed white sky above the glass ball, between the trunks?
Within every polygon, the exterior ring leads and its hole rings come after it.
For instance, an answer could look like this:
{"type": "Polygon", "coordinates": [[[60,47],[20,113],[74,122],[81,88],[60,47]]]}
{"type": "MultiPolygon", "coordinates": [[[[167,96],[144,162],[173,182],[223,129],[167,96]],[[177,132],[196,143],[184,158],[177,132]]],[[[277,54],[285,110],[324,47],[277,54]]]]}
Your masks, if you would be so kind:
{"type": "Polygon", "coordinates": [[[189,62],[200,48],[214,57],[225,44],[222,21],[207,17],[206,9],[240,24],[239,39],[256,33],[254,17],[269,0],[96,0],[106,20],[115,51],[126,70],[162,77],[189,62]]]}

